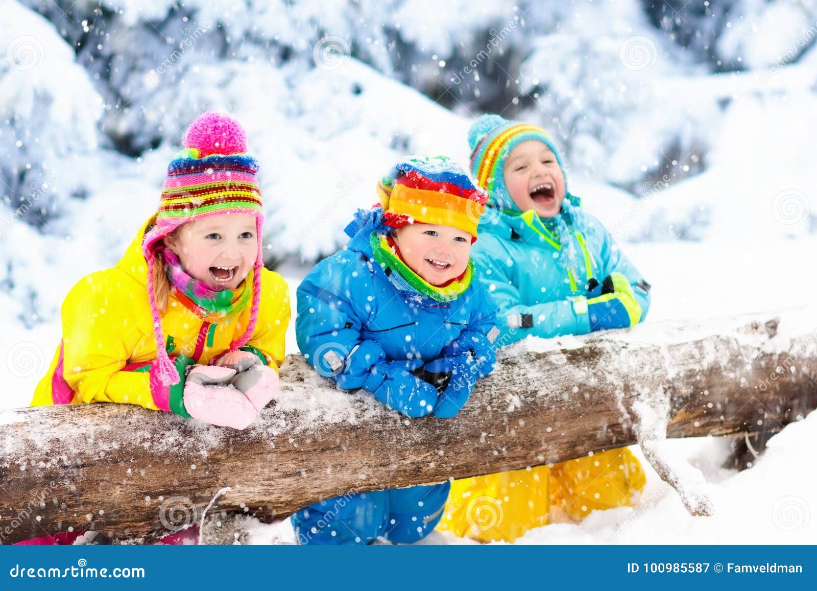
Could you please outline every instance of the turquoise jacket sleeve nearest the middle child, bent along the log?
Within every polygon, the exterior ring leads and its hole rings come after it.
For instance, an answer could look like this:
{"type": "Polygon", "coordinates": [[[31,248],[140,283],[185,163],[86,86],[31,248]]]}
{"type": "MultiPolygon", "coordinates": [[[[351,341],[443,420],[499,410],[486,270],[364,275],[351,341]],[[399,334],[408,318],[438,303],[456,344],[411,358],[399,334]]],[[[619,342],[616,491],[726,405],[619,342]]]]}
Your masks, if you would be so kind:
{"type": "MultiPolygon", "coordinates": [[[[486,238],[490,240],[493,236],[486,238]]],[[[496,347],[507,347],[527,336],[551,338],[590,332],[587,302],[582,299],[575,302],[543,302],[533,306],[522,304],[517,288],[517,266],[509,264],[511,254],[498,240],[492,240],[488,248],[476,250],[473,256],[482,281],[499,307],[500,333],[496,347]]]]}

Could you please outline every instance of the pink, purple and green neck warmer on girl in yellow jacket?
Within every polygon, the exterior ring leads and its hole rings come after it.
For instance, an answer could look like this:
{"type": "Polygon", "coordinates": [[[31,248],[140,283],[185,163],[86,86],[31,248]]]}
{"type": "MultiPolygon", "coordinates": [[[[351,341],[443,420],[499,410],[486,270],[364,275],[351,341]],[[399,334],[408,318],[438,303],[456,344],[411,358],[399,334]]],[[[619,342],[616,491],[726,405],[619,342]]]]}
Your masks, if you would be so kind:
{"type": "Polygon", "coordinates": [[[188,275],[170,248],[158,246],[156,253],[167,265],[173,295],[202,320],[217,324],[239,314],[250,302],[252,289],[247,289],[247,285],[252,285],[252,270],[237,289],[213,289],[188,275]]]}

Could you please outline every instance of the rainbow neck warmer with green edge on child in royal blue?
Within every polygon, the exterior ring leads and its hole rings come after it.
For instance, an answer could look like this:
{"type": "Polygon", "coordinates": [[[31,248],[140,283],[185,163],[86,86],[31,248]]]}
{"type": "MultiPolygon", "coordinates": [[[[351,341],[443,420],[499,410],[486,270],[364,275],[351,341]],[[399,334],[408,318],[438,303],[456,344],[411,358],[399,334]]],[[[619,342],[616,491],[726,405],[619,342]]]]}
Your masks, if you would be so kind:
{"type": "Polygon", "coordinates": [[[390,244],[386,235],[373,233],[369,237],[372,253],[388,275],[389,280],[400,291],[413,291],[437,302],[451,302],[462,295],[471,285],[474,276],[474,263],[468,259],[468,266],[462,275],[444,285],[432,285],[420,275],[408,268],[400,258],[398,251],[390,244]]]}

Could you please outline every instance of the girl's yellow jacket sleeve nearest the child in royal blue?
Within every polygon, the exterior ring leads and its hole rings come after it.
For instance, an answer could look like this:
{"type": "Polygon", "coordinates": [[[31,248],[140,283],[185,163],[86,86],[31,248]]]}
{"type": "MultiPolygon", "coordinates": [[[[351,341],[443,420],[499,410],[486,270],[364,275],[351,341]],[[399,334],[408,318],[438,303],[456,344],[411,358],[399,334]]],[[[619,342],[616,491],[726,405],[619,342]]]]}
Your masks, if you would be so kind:
{"type": "Polygon", "coordinates": [[[255,330],[244,347],[263,357],[266,365],[279,370],[286,356],[285,337],[292,312],[289,286],[274,271],[261,270],[261,304],[255,330]]]}

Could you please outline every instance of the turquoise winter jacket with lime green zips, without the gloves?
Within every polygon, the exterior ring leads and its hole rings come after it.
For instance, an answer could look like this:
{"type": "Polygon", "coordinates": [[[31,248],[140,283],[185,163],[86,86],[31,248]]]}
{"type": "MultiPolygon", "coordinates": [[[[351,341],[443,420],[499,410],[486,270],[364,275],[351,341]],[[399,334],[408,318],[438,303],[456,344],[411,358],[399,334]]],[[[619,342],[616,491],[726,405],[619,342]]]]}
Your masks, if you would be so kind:
{"type": "MultiPolygon", "coordinates": [[[[489,209],[480,221],[480,240],[471,249],[480,276],[489,284],[500,308],[498,326],[502,331],[497,347],[505,347],[528,335],[550,338],[591,331],[584,299],[601,291],[601,282],[613,272],[627,278],[633,298],[641,306],[641,320],[650,309],[650,285],[621,252],[605,226],[584,213],[573,195],[569,209],[581,216],[581,230],[567,217],[569,240],[575,256],[565,268],[559,260],[558,227],[518,210],[489,209]],[[594,289],[587,289],[587,283],[594,289]]],[[[565,242],[565,244],[567,244],[565,242]]]]}

